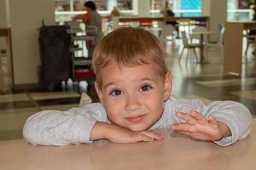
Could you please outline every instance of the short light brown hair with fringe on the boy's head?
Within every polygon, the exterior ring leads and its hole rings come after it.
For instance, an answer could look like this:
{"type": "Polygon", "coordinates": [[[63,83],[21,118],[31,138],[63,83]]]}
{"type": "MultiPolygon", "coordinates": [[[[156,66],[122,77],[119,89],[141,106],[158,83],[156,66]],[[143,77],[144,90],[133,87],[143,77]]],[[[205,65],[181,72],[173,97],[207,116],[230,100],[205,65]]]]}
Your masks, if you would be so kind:
{"type": "Polygon", "coordinates": [[[147,65],[153,62],[162,77],[165,77],[168,71],[160,40],[143,28],[115,29],[98,44],[93,54],[92,67],[100,87],[102,78],[99,72],[112,62],[125,66],[147,65]]]}

